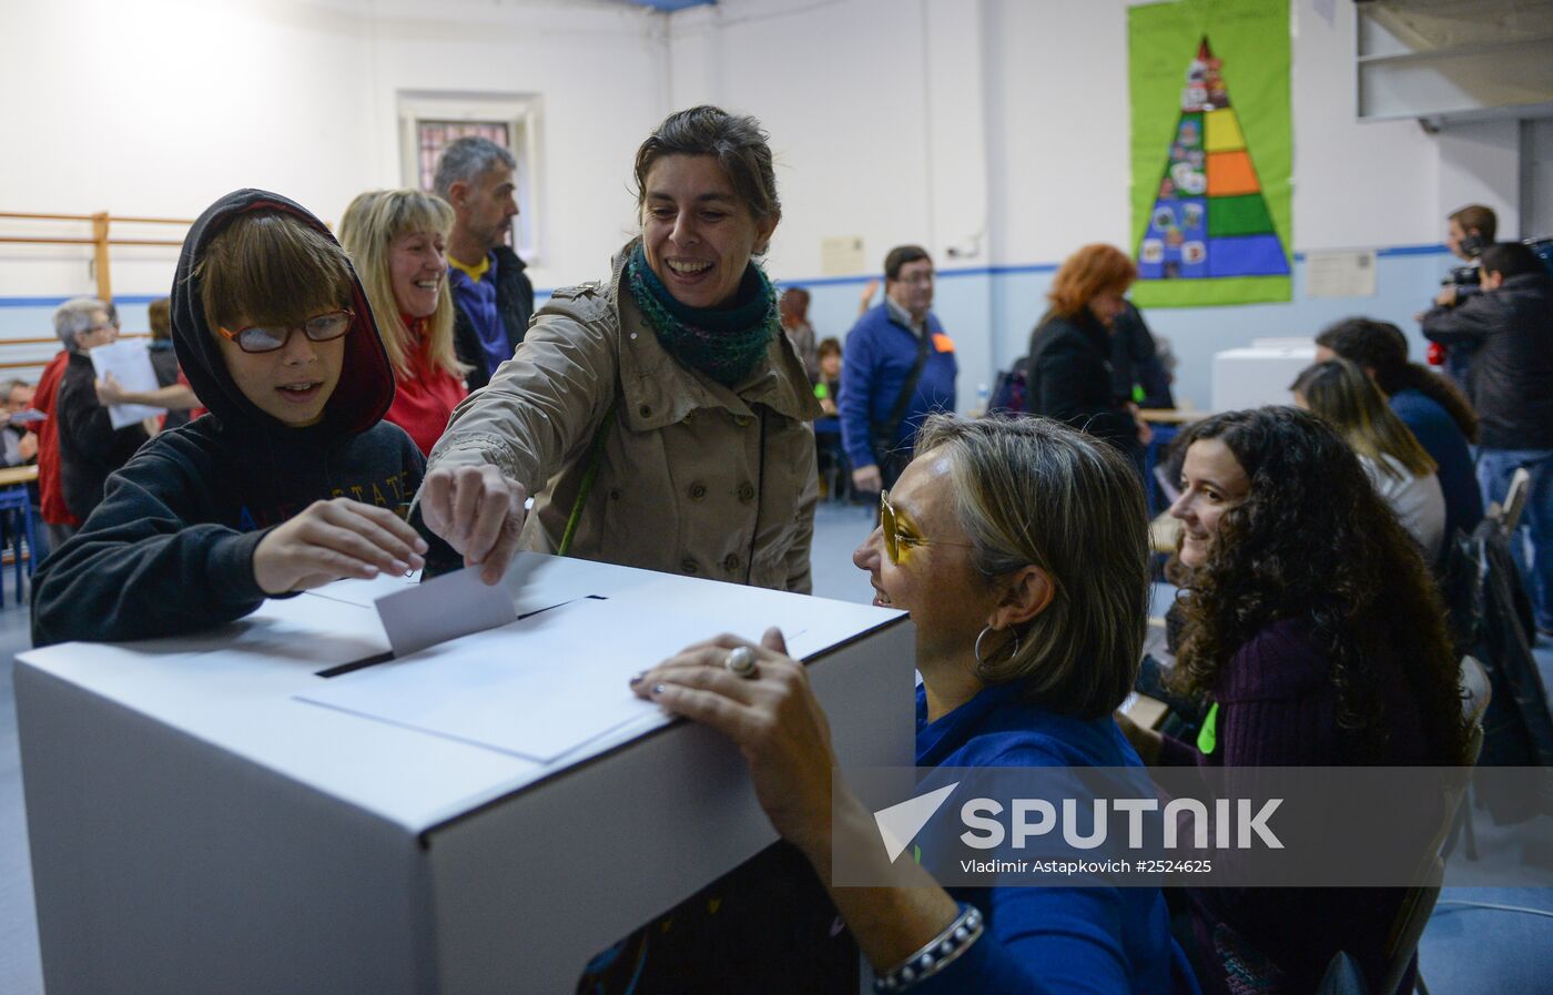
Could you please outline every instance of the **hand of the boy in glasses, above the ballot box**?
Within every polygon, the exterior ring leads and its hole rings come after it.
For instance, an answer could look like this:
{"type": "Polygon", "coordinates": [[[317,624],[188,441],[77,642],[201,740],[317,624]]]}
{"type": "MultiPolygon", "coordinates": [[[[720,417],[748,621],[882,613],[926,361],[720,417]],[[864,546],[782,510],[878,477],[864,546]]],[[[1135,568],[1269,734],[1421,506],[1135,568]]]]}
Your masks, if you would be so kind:
{"type": "Polygon", "coordinates": [[[314,501],[253,550],[253,579],[266,595],[304,591],[342,577],[408,573],[426,540],[387,508],[349,498],[314,501]]]}

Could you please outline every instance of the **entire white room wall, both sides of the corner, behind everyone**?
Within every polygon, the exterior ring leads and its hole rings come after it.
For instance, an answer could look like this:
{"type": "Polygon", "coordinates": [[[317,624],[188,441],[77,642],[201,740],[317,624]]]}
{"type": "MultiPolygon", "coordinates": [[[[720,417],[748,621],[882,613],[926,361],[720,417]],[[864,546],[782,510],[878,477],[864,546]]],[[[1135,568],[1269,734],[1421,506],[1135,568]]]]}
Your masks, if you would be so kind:
{"type": "MultiPolygon", "coordinates": [[[[921,242],[971,273],[940,287],[969,404],[1042,306],[1044,279],[1003,270],[1129,241],[1132,2],[722,0],[663,16],[604,0],[0,0],[0,133],[22,137],[0,155],[0,211],[193,217],[258,185],[337,217],[402,182],[399,92],[537,95],[533,276],[554,287],[599,276],[629,234],[648,130],[711,101],[772,135],[784,217],[769,267],[817,284],[822,332],[851,323],[859,289],[817,281],[828,236],[863,236],[867,270],[921,242]]],[[[1517,216],[1545,172],[1545,129],[1356,123],[1353,0],[1322,8],[1294,0],[1294,248],[1438,244],[1443,213],[1469,200],[1517,216]]],[[[115,292],[165,292],[174,256],[116,250],[115,292]]],[[[0,245],[0,338],[47,334],[50,307],[17,298],[90,292],[87,259],[0,245]]],[[[1429,283],[1435,262],[1421,265],[1384,272],[1429,283]]],[[[1297,281],[1287,306],[1162,321],[1197,365],[1266,331],[1314,332],[1334,307],[1405,323],[1426,295],[1314,303],[1297,281]]],[[[1188,393],[1207,402],[1205,383],[1188,393]]]]}

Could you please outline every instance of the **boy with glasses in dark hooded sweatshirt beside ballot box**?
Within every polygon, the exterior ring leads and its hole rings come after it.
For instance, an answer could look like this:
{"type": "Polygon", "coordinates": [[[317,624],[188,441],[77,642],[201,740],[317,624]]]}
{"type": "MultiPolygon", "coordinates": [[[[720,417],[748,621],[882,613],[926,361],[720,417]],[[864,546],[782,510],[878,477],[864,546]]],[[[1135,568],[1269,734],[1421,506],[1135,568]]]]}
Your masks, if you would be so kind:
{"type": "Polygon", "coordinates": [[[36,646],[191,632],[422,567],[396,511],[426,463],[382,421],[393,368],[323,222],[258,189],[211,205],[179,256],[172,338],[210,414],[141,447],[42,563],[36,646]]]}

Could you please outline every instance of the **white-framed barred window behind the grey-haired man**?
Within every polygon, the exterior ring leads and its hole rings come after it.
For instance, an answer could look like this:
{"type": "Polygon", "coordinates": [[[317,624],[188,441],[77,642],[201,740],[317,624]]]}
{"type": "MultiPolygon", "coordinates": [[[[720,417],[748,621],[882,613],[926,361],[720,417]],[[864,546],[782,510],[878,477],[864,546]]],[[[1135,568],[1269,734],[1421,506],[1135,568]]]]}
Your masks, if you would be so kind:
{"type": "Polygon", "coordinates": [[[489,138],[517,160],[517,210],[512,248],[525,262],[542,251],[539,206],[539,98],[447,93],[401,93],[401,171],[405,186],[432,189],[436,163],[449,143],[466,135],[489,138]]]}

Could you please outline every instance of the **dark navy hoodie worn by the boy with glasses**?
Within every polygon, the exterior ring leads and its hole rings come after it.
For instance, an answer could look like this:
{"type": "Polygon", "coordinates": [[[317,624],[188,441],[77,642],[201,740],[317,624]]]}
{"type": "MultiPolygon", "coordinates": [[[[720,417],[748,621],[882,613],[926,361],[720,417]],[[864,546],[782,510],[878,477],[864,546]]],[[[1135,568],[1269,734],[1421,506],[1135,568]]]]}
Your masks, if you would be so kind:
{"type": "Polygon", "coordinates": [[[34,646],[165,636],[242,618],[266,598],[253,550],[269,529],[312,501],[396,509],[419,487],[421,450],[380,421],[393,369],[359,281],[340,382],[317,425],[270,418],[227,373],[194,269],[227,222],[255,210],[287,211],[329,234],[297,203],[259,189],[228,194],[194,222],[172,281],[172,340],[210,414],[141,447],[109,477],[81,531],[43,560],[33,579],[34,646]]]}

